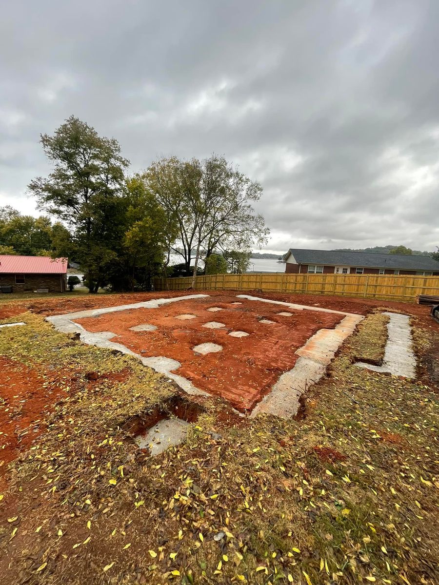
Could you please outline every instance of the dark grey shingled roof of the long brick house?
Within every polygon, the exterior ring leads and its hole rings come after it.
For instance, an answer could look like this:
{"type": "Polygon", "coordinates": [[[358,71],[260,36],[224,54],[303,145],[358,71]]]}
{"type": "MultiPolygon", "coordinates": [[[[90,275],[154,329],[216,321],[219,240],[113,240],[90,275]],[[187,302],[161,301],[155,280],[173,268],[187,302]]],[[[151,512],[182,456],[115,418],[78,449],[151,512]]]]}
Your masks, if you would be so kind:
{"type": "MultiPolygon", "coordinates": [[[[297,264],[326,266],[359,266],[391,270],[427,270],[439,272],[439,262],[430,256],[413,254],[377,254],[374,252],[341,252],[338,250],[301,250],[290,248],[297,264]]],[[[289,253],[287,252],[285,259],[289,253]]]]}

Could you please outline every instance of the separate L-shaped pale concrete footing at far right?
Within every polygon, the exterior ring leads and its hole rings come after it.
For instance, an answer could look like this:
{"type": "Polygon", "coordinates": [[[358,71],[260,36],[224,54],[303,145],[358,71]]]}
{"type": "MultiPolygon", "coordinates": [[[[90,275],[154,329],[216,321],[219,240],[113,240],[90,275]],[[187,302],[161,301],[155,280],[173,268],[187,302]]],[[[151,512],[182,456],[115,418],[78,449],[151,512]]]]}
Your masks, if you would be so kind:
{"type": "Polygon", "coordinates": [[[384,312],[383,315],[389,317],[389,322],[387,323],[387,343],[382,366],[373,366],[363,362],[357,362],[355,365],[372,371],[389,373],[393,376],[416,378],[416,357],[413,353],[409,315],[390,312],[384,312]]]}

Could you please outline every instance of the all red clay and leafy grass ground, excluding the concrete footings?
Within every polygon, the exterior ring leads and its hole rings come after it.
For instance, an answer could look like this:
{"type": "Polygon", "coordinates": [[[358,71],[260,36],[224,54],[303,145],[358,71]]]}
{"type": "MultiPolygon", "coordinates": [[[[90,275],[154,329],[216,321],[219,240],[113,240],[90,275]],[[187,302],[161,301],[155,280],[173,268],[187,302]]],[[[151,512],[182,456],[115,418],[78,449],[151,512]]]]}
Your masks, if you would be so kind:
{"type": "Polygon", "coordinates": [[[145,355],[138,340],[152,335],[208,391],[190,399],[133,357],[44,320],[178,292],[0,298],[0,324],[26,323],[0,329],[0,583],[437,584],[439,324],[428,307],[249,293],[365,316],[296,417],[249,418],[295,348],[341,316],[283,317],[289,309],[262,302],[243,312],[232,305],[239,291],[198,292],[210,296],[153,309],[155,321],[151,309],[78,319],[145,355]],[[212,307],[227,310],[201,319],[212,307]],[[355,365],[382,360],[385,311],[411,317],[414,380],[355,365]],[[261,319],[280,323],[274,338],[261,319]],[[157,330],[132,334],[147,321],[157,330]],[[227,331],[205,333],[209,321],[227,331]],[[239,349],[232,359],[223,350],[217,392],[218,354],[190,349],[212,336],[239,349]],[[176,415],[190,423],[186,442],[156,456],[135,443],[176,415]]]}

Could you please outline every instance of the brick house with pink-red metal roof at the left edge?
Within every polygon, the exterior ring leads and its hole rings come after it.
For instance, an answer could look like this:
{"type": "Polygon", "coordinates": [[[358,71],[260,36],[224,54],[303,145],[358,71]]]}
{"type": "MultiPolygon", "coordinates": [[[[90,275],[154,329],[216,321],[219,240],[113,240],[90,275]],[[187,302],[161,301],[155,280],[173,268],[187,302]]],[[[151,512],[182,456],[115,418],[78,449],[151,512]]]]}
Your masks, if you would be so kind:
{"type": "Polygon", "coordinates": [[[13,292],[37,289],[64,292],[67,290],[67,259],[0,254],[0,287],[12,287],[13,292]]]}

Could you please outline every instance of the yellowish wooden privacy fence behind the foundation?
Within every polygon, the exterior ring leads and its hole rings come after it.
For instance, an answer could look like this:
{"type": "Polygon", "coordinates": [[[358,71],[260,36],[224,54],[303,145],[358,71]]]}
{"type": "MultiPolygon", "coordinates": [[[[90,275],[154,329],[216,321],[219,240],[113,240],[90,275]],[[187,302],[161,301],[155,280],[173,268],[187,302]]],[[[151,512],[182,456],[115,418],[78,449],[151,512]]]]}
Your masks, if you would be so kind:
{"type": "MultiPolygon", "coordinates": [[[[192,277],[156,278],[155,290],[186,290],[192,277]]],[[[419,294],[439,294],[439,276],[382,274],[212,274],[197,276],[196,290],[260,290],[296,294],[344,295],[395,301],[416,300],[419,294]]]]}

